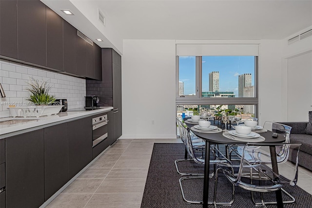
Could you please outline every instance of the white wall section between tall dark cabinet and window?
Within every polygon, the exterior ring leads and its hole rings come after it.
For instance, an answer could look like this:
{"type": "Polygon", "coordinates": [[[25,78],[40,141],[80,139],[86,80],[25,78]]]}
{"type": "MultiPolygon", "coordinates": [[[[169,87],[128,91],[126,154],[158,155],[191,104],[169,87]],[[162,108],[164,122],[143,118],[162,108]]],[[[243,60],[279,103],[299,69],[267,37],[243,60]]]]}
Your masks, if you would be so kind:
{"type": "Polygon", "coordinates": [[[176,138],[175,41],[124,40],[123,52],[121,138],[176,138]]]}

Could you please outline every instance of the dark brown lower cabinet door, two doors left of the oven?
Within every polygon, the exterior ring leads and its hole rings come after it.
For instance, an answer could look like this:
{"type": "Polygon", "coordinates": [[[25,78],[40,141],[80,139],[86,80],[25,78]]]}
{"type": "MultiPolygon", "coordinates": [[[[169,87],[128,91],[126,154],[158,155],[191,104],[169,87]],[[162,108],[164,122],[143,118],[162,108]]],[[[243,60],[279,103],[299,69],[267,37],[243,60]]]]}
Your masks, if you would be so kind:
{"type": "Polygon", "coordinates": [[[68,182],[67,123],[44,128],[44,200],[68,182]]]}

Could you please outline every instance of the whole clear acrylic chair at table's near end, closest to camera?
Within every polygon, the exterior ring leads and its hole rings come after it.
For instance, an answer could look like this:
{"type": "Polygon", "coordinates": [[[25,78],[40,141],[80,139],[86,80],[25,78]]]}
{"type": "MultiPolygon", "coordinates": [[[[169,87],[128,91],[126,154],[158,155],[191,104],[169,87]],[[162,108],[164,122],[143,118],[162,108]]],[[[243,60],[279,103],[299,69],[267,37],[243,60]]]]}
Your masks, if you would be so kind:
{"type": "MultiPolygon", "coordinates": [[[[217,192],[217,180],[218,172],[222,171],[227,179],[234,185],[250,190],[252,193],[252,200],[256,206],[264,206],[268,204],[277,204],[276,201],[265,201],[263,193],[272,192],[281,189],[287,193],[283,187],[286,184],[295,186],[298,180],[298,152],[301,144],[291,143],[276,143],[276,144],[246,144],[241,152],[241,160],[238,165],[233,164],[217,164],[218,168],[215,174],[215,192],[217,192]],[[254,149],[254,146],[258,148],[254,149]],[[273,171],[272,157],[270,151],[265,149],[269,147],[272,151],[272,155],[276,158],[280,157],[280,162],[273,163],[274,167],[277,167],[273,171]],[[289,155],[289,148],[297,149],[297,153],[289,155]],[[288,154],[280,154],[281,149],[288,154]],[[295,158],[296,163],[285,164],[284,161],[291,156],[295,158]],[[277,173],[276,173],[277,172],[277,173]],[[244,181],[242,179],[245,178],[244,181]],[[246,178],[248,180],[246,180],[246,178]],[[260,202],[255,202],[254,193],[260,192],[260,202]]],[[[274,157],[273,157],[274,158],[274,157]]],[[[287,194],[290,196],[289,194],[287,194]]],[[[215,194],[216,196],[216,194],[215,194]]],[[[291,196],[290,196],[291,197],[291,196]]],[[[294,198],[291,197],[291,201],[283,201],[283,203],[293,203],[294,198]]],[[[216,198],[214,199],[214,202],[216,198]]]]}

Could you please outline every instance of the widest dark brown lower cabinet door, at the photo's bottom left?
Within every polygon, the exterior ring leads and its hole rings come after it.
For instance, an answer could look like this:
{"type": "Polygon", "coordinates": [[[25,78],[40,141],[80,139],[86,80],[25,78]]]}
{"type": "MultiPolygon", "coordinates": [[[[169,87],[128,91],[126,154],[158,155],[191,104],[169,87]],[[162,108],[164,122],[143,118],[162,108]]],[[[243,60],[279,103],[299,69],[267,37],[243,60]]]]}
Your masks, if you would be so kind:
{"type": "Polygon", "coordinates": [[[44,203],[44,130],[5,139],[6,208],[38,208],[44,203]]]}

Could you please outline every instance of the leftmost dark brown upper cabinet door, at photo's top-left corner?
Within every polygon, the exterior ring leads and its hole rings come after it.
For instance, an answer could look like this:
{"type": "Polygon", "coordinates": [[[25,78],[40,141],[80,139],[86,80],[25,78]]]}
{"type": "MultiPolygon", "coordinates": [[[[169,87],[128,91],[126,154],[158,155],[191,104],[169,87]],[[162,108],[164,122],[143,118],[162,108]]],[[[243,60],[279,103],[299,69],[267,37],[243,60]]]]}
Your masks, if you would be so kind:
{"type": "Polygon", "coordinates": [[[0,0],[0,55],[18,58],[17,1],[0,0]]]}

